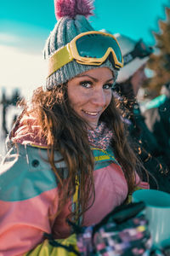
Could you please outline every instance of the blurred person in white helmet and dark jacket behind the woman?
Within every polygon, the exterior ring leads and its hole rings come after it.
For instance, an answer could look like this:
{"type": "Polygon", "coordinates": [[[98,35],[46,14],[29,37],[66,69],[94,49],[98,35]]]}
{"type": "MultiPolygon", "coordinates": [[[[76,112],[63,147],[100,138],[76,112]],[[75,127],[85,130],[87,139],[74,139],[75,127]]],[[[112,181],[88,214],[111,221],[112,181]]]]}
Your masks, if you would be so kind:
{"type": "Polygon", "coordinates": [[[144,68],[153,49],[142,40],[135,42],[121,34],[115,36],[122,49],[124,67],[119,73],[113,91],[122,100],[122,111],[134,150],[150,173],[150,189],[170,193],[169,158],[145,124],[136,98],[139,88],[147,79],[144,68]]]}

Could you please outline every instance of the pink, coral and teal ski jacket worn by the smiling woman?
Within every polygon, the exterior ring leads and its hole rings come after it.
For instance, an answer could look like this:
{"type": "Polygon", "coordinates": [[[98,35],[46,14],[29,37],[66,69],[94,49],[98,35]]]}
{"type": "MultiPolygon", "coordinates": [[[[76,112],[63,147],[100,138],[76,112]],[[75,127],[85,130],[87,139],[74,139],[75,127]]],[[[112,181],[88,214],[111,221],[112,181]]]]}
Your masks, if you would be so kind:
{"type": "MultiPolygon", "coordinates": [[[[111,148],[92,148],[94,153],[95,201],[84,213],[82,225],[97,224],[127,198],[127,182],[111,148]]],[[[55,160],[61,159],[58,152],[55,160]]],[[[66,177],[64,161],[56,164],[66,177]]],[[[141,188],[149,189],[148,183],[141,188]]],[[[0,166],[0,256],[23,255],[44,240],[71,235],[65,218],[71,200],[56,216],[59,208],[58,182],[48,163],[47,148],[17,143],[0,166]]],[[[74,204],[73,204],[74,206],[74,204]]]]}

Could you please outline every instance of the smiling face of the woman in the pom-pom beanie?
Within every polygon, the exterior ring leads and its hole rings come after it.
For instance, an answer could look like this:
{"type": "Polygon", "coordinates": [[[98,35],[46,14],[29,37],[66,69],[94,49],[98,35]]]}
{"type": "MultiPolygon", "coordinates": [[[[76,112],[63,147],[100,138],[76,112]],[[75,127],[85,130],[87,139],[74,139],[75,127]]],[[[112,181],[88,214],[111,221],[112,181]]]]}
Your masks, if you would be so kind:
{"type": "Polygon", "coordinates": [[[68,98],[74,111],[96,128],[100,115],[111,102],[113,73],[108,67],[97,67],[77,75],[68,82],[68,98]]]}

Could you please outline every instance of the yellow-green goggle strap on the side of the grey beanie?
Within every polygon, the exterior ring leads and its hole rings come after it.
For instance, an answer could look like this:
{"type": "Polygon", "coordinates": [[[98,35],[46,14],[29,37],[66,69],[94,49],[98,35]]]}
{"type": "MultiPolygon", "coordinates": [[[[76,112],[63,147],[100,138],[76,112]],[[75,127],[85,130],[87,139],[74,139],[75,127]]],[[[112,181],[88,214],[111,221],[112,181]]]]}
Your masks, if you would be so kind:
{"type": "Polygon", "coordinates": [[[48,77],[53,74],[60,67],[71,62],[73,57],[68,50],[68,44],[57,50],[48,60],[48,77]]]}

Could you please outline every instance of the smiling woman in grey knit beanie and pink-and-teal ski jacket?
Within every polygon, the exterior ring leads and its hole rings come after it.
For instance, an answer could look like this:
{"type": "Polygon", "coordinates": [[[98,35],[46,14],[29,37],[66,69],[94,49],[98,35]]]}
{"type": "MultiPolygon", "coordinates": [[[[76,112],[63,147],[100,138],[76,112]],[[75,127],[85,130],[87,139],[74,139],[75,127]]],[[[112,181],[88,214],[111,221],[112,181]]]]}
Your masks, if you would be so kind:
{"type": "Polygon", "coordinates": [[[89,1],[55,10],[47,83],[17,120],[1,167],[1,255],[28,252],[44,233],[70,236],[67,219],[97,224],[136,186],[148,188],[111,92],[122,67],[116,39],[89,25],[89,1]]]}

